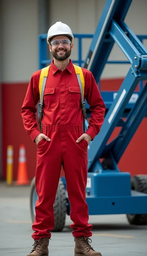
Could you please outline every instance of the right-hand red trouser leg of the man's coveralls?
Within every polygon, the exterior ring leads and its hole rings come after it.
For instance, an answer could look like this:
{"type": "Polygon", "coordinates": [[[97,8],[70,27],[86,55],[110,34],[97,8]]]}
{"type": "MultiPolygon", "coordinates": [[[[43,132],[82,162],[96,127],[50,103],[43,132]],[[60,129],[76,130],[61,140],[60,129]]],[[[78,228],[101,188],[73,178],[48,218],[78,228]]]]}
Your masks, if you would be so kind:
{"type": "Polygon", "coordinates": [[[87,185],[87,141],[76,142],[82,131],[66,134],[67,150],[64,155],[64,170],[67,192],[70,202],[70,218],[73,236],[92,235],[92,225],[88,224],[88,205],[86,203],[87,185]]]}

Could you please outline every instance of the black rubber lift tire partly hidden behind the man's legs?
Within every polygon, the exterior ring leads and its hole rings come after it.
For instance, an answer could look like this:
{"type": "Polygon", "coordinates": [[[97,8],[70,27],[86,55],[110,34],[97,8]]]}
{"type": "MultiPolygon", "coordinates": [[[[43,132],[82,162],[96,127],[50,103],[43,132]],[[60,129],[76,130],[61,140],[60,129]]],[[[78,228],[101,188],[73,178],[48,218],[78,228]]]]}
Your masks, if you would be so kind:
{"type": "MultiPolygon", "coordinates": [[[[31,185],[30,185],[30,211],[31,211],[31,219],[32,222],[35,220],[35,215],[33,212],[33,203],[32,203],[32,196],[33,190],[35,189],[35,177],[33,178],[31,185]]],[[[65,186],[63,181],[59,180],[59,185],[56,193],[56,199],[54,203],[54,217],[55,217],[55,226],[52,232],[60,232],[63,230],[65,226],[65,219],[67,213],[67,205],[66,205],[66,193],[65,193],[65,186]]]]}

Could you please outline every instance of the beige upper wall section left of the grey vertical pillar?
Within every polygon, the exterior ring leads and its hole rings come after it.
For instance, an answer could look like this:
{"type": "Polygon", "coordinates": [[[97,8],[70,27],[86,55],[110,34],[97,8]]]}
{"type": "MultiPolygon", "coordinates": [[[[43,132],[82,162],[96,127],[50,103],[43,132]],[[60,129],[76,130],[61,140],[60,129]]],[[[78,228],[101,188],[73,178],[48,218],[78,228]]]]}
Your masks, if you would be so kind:
{"type": "Polygon", "coordinates": [[[28,81],[36,69],[37,0],[3,0],[2,81],[28,81]]]}

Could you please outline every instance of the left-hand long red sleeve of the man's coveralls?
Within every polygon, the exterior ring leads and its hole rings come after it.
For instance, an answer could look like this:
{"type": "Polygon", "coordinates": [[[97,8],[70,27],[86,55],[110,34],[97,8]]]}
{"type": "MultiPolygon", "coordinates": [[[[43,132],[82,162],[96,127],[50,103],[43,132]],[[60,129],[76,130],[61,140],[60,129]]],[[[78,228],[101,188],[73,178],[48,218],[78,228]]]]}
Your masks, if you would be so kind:
{"type": "Polygon", "coordinates": [[[36,123],[36,105],[39,101],[39,89],[38,81],[35,80],[35,77],[32,75],[29,82],[29,86],[24,98],[23,106],[21,108],[21,116],[24,123],[24,128],[31,139],[34,141],[37,135],[41,132],[37,129],[36,123]]]}

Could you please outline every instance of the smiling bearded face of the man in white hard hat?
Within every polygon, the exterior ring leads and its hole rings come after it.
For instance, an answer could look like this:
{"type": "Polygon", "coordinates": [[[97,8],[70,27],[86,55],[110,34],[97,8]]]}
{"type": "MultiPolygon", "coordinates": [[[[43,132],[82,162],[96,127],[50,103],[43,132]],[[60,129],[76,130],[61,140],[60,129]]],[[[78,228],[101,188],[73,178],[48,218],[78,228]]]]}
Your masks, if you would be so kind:
{"type": "MultiPolygon", "coordinates": [[[[57,36],[54,37],[51,41],[54,40],[60,40],[60,39],[68,39],[69,37],[66,36],[57,36]]],[[[73,44],[63,45],[62,42],[58,46],[55,45],[49,45],[50,52],[52,53],[52,56],[58,60],[58,61],[64,61],[66,60],[73,50],[73,44]]]]}

